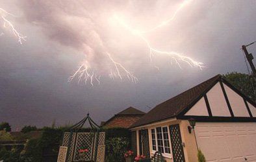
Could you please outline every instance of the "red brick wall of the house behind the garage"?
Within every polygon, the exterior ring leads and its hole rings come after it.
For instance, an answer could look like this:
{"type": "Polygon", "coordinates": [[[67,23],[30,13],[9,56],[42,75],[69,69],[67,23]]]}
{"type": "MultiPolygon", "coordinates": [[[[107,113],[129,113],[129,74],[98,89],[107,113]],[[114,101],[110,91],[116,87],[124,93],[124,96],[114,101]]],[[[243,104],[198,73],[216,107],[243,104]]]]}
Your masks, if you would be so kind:
{"type": "Polygon", "coordinates": [[[105,124],[106,128],[129,128],[134,122],[138,121],[142,116],[116,116],[105,124]]]}

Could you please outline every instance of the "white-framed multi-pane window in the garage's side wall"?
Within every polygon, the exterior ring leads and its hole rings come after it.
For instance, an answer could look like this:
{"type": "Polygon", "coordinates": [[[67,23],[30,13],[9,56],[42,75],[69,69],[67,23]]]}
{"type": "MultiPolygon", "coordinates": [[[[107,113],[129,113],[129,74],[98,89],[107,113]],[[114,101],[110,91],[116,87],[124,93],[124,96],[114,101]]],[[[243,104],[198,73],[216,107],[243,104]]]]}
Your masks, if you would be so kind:
{"type": "Polygon", "coordinates": [[[152,150],[171,154],[170,137],[168,127],[157,127],[151,129],[152,150]]]}

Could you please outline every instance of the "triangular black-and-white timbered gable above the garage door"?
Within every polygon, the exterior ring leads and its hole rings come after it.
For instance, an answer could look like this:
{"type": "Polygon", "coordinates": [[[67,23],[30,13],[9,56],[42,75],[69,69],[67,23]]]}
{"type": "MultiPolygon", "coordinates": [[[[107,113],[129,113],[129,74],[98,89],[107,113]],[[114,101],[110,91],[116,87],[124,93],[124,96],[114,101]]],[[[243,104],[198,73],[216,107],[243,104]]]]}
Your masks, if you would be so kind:
{"type": "Polygon", "coordinates": [[[220,80],[183,116],[250,118],[256,117],[256,108],[237,89],[220,80]]]}

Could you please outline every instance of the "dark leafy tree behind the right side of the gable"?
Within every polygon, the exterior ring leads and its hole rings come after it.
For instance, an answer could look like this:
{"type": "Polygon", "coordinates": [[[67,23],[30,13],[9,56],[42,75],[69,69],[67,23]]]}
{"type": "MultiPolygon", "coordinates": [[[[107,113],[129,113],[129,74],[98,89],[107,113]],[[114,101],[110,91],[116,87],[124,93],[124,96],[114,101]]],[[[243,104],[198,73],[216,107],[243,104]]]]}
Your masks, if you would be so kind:
{"type": "Polygon", "coordinates": [[[256,78],[244,73],[227,73],[225,78],[244,95],[256,102],[256,78]]]}

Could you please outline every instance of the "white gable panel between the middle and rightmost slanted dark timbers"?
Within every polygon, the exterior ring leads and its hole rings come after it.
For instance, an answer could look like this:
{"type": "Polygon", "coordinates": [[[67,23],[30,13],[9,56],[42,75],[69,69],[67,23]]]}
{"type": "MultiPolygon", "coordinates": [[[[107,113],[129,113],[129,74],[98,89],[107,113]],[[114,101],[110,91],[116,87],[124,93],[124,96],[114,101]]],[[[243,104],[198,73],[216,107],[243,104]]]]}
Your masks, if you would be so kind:
{"type": "Polygon", "coordinates": [[[227,98],[229,99],[230,106],[235,117],[250,117],[250,114],[244,103],[244,99],[233,91],[230,87],[224,84],[225,92],[227,93],[227,98]]]}

